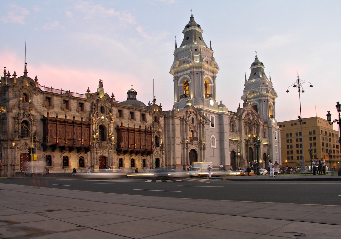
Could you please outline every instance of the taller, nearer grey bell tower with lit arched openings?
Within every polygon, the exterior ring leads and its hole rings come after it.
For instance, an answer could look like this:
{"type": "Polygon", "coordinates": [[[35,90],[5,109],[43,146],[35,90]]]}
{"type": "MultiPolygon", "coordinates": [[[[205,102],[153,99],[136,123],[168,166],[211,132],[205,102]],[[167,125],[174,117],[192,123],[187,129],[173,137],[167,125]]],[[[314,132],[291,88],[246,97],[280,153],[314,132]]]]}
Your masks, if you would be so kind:
{"type": "Polygon", "coordinates": [[[173,109],[189,106],[217,109],[216,75],[219,66],[214,60],[211,41],[208,47],[193,14],[182,33],[184,37],[179,48],[175,40],[174,62],[169,72],[174,82],[173,109]]]}

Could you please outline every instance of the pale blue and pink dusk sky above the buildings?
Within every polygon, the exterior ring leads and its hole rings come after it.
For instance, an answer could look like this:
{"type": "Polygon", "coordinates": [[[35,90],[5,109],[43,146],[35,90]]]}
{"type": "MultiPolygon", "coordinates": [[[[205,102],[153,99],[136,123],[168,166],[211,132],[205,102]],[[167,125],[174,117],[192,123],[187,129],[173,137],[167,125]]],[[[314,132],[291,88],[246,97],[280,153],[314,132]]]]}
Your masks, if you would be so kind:
{"type": "Polygon", "coordinates": [[[27,41],[28,76],[46,87],[94,93],[101,79],[116,100],[126,100],[133,85],[137,99],[148,104],[154,80],[157,104],[172,110],[175,37],[179,46],[193,10],[204,41],[211,39],[220,67],[217,100],[228,110],[242,104],[257,51],[278,94],[278,122],[300,114],[291,87],[297,73],[307,82],[302,118],[326,118],[327,111],[337,118],[341,1],[2,0],[0,6],[0,67],[23,75],[27,41]]]}

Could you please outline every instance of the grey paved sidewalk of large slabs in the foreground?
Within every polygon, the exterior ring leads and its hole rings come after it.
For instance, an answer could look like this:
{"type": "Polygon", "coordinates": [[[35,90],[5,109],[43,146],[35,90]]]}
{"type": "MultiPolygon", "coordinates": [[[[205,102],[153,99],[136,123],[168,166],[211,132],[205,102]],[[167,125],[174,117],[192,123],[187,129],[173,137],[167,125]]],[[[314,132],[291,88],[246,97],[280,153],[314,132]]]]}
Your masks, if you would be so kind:
{"type": "Polygon", "coordinates": [[[0,238],[340,238],[341,207],[0,184],[0,238]]]}

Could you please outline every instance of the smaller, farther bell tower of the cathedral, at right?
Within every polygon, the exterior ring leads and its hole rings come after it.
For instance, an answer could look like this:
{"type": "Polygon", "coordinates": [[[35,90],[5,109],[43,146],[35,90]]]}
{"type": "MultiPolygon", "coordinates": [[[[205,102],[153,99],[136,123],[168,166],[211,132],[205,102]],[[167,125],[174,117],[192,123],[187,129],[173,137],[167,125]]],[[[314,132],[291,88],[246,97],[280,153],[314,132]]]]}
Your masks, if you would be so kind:
{"type": "Polygon", "coordinates": [[[264,122],[276,119],[275,99],[277,93],[273,88],[271,76],[269,76],[269,80],[264,73],[264,64],[258,60],[257,55],[250,69],[249,80],[246,80],[245,75],[244,92],[241,99],[249,101],[251,107],[261,115],[264,122]]]}

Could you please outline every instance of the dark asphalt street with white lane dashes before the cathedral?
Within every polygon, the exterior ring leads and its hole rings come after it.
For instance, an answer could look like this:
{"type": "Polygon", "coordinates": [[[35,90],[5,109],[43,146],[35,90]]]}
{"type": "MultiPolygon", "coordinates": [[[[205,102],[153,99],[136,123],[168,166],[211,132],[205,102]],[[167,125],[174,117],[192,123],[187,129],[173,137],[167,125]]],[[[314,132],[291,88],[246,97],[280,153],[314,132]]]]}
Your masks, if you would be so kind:
{"type": "MultiPolygon", "coordinates": [[[[266,176],[264,176],[266,177],[266,176]]],[[[243,178],[246,179],[246,178],[243,178]]],[[[1,183],[32,186],[31,180],[1,179],[1,183]]],[[[229,181],[211,179],[46,179],[42,188],[172,198],[281,202],[341,206],[341,181],[229,181]]]]}

